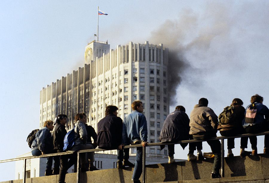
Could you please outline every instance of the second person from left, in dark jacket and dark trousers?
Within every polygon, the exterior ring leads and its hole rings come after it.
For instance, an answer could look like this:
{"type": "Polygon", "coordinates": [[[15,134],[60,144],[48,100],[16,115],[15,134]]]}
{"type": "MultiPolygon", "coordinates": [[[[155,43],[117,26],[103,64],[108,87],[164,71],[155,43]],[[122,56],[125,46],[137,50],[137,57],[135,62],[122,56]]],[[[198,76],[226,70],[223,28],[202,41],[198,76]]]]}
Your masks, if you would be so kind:
{"type": "MultiPolygon", "coordinates": [[[[59,152],[64,152],[63,147],[64,147],[64,138],[65,135],[67,134],[67,131],[65,129],[65,124],[67,121],[67,116],[64,114],[60,114],[55,118],[54,122],[56,124],[54,131],[53,131],[53,145],[54,145],[54,150],[56,150],[58,153],[59,152]]],[[[65,182],[65,174],[66,171],[74,164],[76,161],[76,157],[72,155],[61,155],[60,156],[60,170],[59,170],[59,183],[64,183],[65,182]],[[68,158],[70,160],[68,161],[68,158]]],[[[54,168],[55,171],[55,168],[54,168]]]]}

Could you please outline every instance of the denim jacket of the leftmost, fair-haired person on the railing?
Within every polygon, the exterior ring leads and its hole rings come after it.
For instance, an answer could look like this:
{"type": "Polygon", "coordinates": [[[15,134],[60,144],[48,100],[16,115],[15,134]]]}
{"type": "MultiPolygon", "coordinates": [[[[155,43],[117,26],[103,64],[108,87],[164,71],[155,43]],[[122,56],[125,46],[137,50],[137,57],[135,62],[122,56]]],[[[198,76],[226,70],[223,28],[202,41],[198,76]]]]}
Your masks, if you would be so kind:
{"type": "Polygon", "coordinates": [[[53,149],[51,131],[47,127],[43,127],[36,133],[33,140],[31,150],[39,149],[41,152],[50,153],[53,149]]]}

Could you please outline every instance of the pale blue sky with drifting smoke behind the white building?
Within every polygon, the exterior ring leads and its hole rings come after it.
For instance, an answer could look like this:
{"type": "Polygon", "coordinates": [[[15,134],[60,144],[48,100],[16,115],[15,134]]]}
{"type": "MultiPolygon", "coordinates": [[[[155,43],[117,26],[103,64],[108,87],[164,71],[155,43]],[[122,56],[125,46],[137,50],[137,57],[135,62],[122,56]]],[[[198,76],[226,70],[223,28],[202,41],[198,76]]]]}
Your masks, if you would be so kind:
{"type": "MultiPolygon", "coordinates": [[[[99,40],[112,49],[148,40],[188,63],[179,68],[175,96],[188,115],[201,97],[217,115],[233,98],[245,107],[256,93],[269,106],[268,1],[1,1],[1,159],[30,152],[26,137],[39,126],[39,91],[83,66],[97,33],[97,6],[108,13],[100,16],[99,40]]],[[[178,146],[175,157],[187,153],[178,146]]],[[[0,181],[14,179],[14,169],[0,164],[0,181]]]]}

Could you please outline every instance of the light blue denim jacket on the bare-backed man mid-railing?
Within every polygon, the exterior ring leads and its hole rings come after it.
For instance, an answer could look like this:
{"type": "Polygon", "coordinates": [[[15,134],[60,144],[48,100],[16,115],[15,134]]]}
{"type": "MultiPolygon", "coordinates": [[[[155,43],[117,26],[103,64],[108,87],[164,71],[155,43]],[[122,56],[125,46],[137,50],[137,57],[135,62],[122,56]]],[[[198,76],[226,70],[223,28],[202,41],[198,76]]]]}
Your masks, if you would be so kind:
{"type": "Polygon", "coordinates": [[[137,110],[125,116],[123,121],[122,141],[129,145],[138,142],[146,142],[148,138],[148,128],[145,115],[137,110]]]}

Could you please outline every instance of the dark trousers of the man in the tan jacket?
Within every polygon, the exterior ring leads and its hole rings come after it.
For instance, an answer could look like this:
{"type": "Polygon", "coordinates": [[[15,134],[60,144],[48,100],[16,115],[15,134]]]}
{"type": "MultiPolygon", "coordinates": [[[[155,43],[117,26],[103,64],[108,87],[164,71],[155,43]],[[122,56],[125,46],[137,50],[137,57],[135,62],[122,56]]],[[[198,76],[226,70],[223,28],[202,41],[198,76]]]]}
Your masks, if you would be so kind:
{"type": "MultiPolygon", "coordinates": [[[[193,138],[195,140],[207,140],[211,137],[216,137],[216,135],[193,137],[193,138]]],[[[219,169],[221,168],[221,143],[219,140],[211,140],[207,141],[207,144],[210,145],[212,153],[215,155],[212,172],[219,173],[219,169]]]]}

